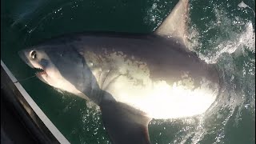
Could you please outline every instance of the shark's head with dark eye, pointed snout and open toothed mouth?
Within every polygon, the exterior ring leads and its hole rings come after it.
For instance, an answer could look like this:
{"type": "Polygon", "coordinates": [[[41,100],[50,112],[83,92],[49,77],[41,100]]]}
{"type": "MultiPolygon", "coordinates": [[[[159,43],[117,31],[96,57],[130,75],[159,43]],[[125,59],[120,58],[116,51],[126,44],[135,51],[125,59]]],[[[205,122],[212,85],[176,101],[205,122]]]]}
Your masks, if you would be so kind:
{"type": "Polygon", "coordinates": [[[76,95],[90,93],[93,78],[85,59],[72,46],[63,46],[33,46],[18,54],[28,66],[40,70],[36,75],[42,82],[76,95]]]}

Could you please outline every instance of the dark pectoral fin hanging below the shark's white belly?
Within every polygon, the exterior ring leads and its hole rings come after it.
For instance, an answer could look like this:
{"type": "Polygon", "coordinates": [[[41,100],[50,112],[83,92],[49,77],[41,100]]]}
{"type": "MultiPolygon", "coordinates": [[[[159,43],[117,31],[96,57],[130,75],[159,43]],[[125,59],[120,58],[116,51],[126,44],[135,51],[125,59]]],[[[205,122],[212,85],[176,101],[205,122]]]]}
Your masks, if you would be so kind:
{"type": "Polygon", "coordinates": [[[150,144],[150,118],[126,104],[113,101],[101,103],[102,120],[114,144],[150,144]]]}

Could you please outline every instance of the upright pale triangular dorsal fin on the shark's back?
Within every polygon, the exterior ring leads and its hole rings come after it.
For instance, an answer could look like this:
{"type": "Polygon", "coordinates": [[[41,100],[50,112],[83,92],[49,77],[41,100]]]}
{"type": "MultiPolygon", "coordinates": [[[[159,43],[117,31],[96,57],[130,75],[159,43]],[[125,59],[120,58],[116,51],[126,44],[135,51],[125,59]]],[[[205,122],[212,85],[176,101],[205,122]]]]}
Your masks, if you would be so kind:
{"type": "Polygon", "coordinates": [[[154,31],[164,37],[178,38],[186,44],[186,19],[188,14],[188,0],[179,0],[174,9],[154,31]]]}

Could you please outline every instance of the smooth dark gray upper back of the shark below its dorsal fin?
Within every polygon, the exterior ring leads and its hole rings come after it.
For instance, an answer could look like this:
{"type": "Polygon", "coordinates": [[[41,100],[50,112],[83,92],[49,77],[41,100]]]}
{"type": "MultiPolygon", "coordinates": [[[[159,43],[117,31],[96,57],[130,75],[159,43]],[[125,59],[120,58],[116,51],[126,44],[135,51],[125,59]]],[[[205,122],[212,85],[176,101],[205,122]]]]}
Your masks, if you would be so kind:
{"type": "Polygon", "coordinates": [[[200,86],[202,78],[219,84],[217,67],[202,61],[175,38],[154,34],[89,33],[55,38],[43,45],[61,49],[68,46],[80,54],[90,51],[103,57],[109,53],[122,54],[126,61],[146,63],[152,80],[165,80],[170,85],[180,81],[184,74],[193,78],[194,88],[200,86]]]}

